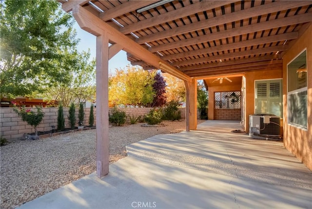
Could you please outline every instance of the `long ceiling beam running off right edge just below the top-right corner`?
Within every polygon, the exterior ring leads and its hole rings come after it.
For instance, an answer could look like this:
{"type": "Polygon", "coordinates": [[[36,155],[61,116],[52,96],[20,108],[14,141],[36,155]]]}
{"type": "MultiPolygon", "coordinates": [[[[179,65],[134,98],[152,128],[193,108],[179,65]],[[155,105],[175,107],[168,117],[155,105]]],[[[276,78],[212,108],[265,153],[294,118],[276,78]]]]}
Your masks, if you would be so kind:
{"type": "Polygon", "coordinates": [[[225,39],[228,37],[239,36],[243,34],[283,27],[283,26],[292,25],[292,24],[310,22],[311,20],[312,20],[312,13],[310,12],[310,13],[295,15],[295,16],[291,16],[287,18],[276,19],[272,21],[254,23],[251,25],[232,28],[229,30],[224,30],[224,31],[220,31],[217,33],[198,36],[198,37],[191,38],[191,39],[186,39],[186,40],[181,40],[181,41],[176,41],[176,42],[171,42],[171,43],[164,43],[164,44],[149,48],[149,51],[157,52],[157,51],[163,51],[163,50],[168,50],[168,49],[173,49],[173,48],[179,48],[183,46],[188,46],[188,45],[193,45],[193,44],[198,44],[198,43],[203,43],[203,42],[210,42],[210,41],[219,40],[219,39],[225,39]]]}

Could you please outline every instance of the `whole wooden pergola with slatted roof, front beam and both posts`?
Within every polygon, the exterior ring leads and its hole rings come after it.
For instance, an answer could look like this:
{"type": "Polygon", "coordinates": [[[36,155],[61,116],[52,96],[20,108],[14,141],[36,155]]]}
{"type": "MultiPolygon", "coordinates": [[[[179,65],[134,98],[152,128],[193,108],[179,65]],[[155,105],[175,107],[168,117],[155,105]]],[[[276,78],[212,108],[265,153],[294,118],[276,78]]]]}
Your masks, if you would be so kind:
{"type": "Polygon", "coordinates": [[[186,130],[196,129],[196,81],[282,68],[282,56],[312,21],[312,1],[59,0],[97,37],[97,174],[109,170],[108,61],[184,81],[186,130]],[[109,46],[109,43],[111,44],[109,46]]]}

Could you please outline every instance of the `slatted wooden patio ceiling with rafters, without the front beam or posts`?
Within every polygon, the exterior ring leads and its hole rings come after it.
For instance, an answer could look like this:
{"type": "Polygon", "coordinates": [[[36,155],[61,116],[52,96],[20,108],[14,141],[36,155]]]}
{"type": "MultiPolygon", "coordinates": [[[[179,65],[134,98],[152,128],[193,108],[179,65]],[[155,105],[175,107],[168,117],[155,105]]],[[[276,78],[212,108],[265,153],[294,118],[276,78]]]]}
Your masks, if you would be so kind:
{"type": "MultiPolygon", "coordinates": [[[[312,21],[311,0],[59,1],[67,12],[79,4],[163,63],[198,79],[282,68],[283,54],[312,21]]],[[[159,68],[125,51],[133,65],[159,68]]]]}

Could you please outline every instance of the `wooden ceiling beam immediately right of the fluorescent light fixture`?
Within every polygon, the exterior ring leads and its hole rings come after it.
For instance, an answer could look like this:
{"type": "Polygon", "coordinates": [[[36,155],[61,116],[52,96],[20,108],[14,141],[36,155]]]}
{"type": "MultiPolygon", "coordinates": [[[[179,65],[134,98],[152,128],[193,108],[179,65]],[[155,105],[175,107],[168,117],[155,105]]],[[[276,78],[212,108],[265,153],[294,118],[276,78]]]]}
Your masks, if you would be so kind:
{"type": "Polygon", "coordinates": [[[165,14],[155,16],[149,19],[146,19],[144,21],[138,21],[136,23],[133,23],[131,25],[125,26],[123,28],[120,28],[120,32],[123,34],[128,34],[130,32],[135,32],[138,30],[141,30],[143,28],[148,28],[154,25],[158,25],[164,22],[173,21],[176,19],[179,19],[181,17],[193,15],[197,12],[206,11],[209,9],[213,9],[215,7],[223,6],[232,2],[235,2],[237,0],[229,0],[229,1],[199,1],[194,4],[191,4],[190,6],[182,7],[180,9],[176,9],[170,12],[166,12],[165,14]]]}

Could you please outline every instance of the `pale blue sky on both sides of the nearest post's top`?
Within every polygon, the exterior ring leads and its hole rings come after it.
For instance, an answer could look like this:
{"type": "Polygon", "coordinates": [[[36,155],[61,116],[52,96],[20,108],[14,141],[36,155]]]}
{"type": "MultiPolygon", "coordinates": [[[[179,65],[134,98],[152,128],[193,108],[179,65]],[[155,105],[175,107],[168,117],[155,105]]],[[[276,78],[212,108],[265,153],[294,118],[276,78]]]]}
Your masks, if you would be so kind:
{"type": "MultiPolygon", "coordinates": [[[[78,51],[87,51],[88,48],[90,48],[91,58],[96,57],[96,36],[92,35],[91,33],[88,33],[84,30],[82,30],[78,23],[75,22],[74,28],[77,30],[77,38],[80,39],[80,42],[78,44],[78,51]]],[[[129,61],[127,61],[127,54],[125,51],[120,51],[115,55],[112,59],[109,60],[108,67],[110,69],[110,72],[114,72],[115,68],[124,68],[130,64],[129,61]]]]}

